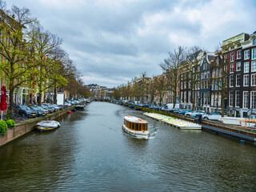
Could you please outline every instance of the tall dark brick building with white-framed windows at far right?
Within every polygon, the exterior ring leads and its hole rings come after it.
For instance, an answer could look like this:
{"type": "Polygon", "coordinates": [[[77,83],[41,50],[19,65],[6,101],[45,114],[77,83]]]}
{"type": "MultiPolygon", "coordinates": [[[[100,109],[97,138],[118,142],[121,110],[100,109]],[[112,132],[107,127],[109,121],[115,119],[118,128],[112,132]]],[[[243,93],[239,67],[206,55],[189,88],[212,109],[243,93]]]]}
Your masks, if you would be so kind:
{"type": "Polygon", "coordinates": [[[226,61],[225,109],[230,116],[246,117],[256,109],[256,33],[238,34],[222,42],[226,61]]]}

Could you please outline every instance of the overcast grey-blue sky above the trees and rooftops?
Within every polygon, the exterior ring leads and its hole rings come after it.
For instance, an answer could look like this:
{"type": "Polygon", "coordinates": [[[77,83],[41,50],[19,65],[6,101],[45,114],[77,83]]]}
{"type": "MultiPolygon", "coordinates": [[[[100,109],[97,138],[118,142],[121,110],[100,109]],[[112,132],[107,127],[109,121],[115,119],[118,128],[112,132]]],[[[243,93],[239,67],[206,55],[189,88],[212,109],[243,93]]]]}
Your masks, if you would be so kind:
{"type": "Polygon", "coordinates": [[[86,84],[114,87],[159,63],[178,45],[214,51],[219,42],[256,30],[255,0],[6,0],[29,8],[86,84]]]}

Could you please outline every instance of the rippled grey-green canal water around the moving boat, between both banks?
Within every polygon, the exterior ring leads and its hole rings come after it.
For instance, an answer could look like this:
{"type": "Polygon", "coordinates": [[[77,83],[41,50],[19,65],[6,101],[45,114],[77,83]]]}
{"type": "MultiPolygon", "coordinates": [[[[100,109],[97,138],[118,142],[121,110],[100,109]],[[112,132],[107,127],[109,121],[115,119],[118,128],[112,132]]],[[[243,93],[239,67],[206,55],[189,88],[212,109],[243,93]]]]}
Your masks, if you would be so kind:
{"type": "Polygon", "coordinates": [[[58,121],[0,148],[0,191],[255,191],[253,145],[107,102],[58,121]],[[146,119],[151,138],[124,134],[125,115],[146,119]]]}

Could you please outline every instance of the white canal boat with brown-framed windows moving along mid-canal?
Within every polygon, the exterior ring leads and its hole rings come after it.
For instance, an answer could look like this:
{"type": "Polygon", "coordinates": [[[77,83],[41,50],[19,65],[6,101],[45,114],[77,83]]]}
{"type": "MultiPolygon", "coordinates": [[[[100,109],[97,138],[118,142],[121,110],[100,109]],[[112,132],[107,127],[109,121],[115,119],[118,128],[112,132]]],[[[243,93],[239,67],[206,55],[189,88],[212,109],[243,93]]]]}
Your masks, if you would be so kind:
{"type": "Polygon", "coordinates": [[[148,138],[150,131],[148,130],[148,122],[134,116],[125,116],[122,129],[127,133],[138,138],[148,138]]]}

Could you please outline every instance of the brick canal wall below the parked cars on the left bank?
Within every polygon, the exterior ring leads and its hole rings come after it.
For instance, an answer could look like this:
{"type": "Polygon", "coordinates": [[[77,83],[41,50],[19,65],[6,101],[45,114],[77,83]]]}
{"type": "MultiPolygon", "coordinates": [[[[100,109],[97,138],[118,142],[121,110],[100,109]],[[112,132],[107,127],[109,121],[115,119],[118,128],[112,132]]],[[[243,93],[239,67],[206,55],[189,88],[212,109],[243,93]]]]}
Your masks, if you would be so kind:
{"type": "Polygon", "coordinates": [[[69,107],[66,110],[61,110],[61,111],[55,112],[53,114],[47,114],[45,117],[30,118],[26,121],[17,123],[16,126],[14,126],[12,128],[8,128],[7,133],[5,135],[0,135],[0,147],[5,145],[8,142],[13,141],[16,138],[21,137],[24,134],[29,133],[30,131],[34,130],[35,125],[38,122],[54,120],[55,118],[58,118],[58,117],[62,116],[63,114],[66,114],[67,111],[71,110],[72,108],[73,107],[69,107]]]}

